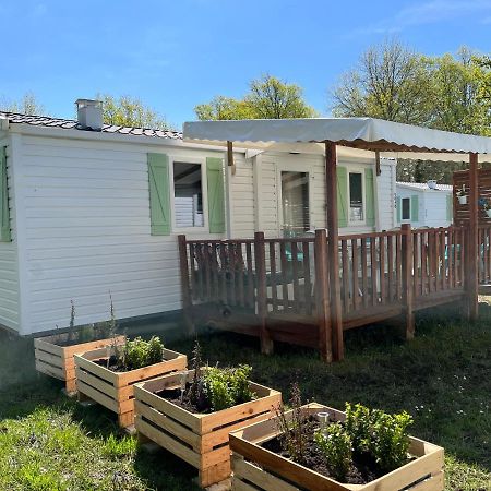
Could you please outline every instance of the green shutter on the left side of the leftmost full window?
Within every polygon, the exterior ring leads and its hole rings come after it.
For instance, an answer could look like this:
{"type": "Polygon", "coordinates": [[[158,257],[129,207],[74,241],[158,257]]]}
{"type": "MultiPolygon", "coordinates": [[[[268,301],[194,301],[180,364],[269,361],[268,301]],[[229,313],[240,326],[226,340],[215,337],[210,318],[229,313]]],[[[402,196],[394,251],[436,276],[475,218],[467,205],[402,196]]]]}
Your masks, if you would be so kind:
{"type": "Polygon", "coordinates": [[[147,158],[151,232],[153,236],[168,236],[170,235],[169,158],[165,154],[148,154],[147,158]]]}

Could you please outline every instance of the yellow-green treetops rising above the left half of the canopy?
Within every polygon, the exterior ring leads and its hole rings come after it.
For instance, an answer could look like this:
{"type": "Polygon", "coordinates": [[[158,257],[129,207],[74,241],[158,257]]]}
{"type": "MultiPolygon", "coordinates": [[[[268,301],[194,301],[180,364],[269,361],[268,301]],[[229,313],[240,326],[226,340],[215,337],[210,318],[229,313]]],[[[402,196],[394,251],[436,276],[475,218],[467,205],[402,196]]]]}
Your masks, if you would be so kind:
{"type": "Polygon", "coordinates": [[[217,96],[194,108],[200,120],[313,118],[302,89],[272,75],[253,80],[241,99],[217,96]]]}

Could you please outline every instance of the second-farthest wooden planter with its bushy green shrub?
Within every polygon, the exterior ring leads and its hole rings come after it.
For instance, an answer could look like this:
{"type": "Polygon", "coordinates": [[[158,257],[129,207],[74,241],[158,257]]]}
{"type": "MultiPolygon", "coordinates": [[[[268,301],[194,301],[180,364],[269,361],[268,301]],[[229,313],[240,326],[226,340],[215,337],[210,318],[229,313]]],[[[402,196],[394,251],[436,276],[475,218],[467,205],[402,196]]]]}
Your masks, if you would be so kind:
{"type": "Polygon", "coordinates": [[[157,336],[148,342],[136,337],[75,355],[76,388],[118,415],[121,428],[134,421],[134,384],[183,370],[185,355],[164,348],[157,336]]]}

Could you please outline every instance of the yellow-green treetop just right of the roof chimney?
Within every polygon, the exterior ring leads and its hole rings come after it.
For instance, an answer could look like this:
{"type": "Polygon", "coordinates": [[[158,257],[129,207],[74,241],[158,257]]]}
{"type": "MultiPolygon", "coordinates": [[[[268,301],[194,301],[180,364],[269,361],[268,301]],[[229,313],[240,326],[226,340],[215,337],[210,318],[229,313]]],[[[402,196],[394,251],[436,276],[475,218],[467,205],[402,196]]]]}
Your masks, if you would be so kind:
{"type": "Polygon", "coordinates": [[[103,120],[105,124],[120,127],[152,128],[168,130],[170,124],[158,112],[145,106],[139,98],[121,96],[115,98],[111,95],[97,95],[103,101],[103,120]]]}

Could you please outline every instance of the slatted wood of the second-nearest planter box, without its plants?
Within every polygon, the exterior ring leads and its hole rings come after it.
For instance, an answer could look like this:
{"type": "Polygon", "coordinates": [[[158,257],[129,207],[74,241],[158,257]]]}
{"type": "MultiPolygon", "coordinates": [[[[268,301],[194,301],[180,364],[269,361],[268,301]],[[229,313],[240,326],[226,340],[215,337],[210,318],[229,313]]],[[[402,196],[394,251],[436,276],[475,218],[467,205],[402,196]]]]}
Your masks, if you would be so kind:
{"type": "MultiPolygon", "coordinates": [[[[190,382],[194,370],[187,371],[190,382]]],[[[250,382],[258,399],[208,415],[192,414],[156,392],[180,387],[181,374],[161,376],[135,385],[135,428],[140,434],[191,464],[199,470],[200,486],[207,487],[230,476],[228,433],[272,416],[282,394],[250,382]]]]}

